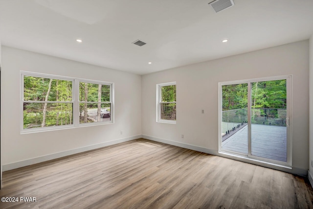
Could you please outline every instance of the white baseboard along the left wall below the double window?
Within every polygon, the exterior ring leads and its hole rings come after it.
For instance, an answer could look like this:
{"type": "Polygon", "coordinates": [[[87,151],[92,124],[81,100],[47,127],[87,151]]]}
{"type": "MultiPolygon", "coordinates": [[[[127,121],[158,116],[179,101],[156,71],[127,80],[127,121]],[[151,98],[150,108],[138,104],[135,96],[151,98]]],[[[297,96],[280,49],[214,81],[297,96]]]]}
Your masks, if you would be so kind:
{"type": "Polygon", "coordinates": [[[64,152],[59,152],[59,153],[54,153],[51,155],[45,155],[45,156],[41,156],[38,158],[32,158],[32,159],[28,159],[28,160],[24,160],[24,161],[19,161],[19,162],[15,162],[15,163],[10,163],[10,164],[5,164],[2,165],[2,171],[7,171],[7,170],[12,170],[15,168],[19,168],[19,167],[23,167],[23,166],[27,166],[27,165],[31,165],[31,164],[36,164],[36,163],[42,163],[45,161],[49,161],[49,160],[53,160],[53,159],[57,159],[57,158],[62,158],[68,155],[73,155],[73,154],[77,154],[77,153],[81,153],[81,152],[86,152],[89,150],[93,150],[93,149],[98,149],[101,147],[105,147],[105,146],[109,146],[112,144],[118,144],[121,142],[125,142],[125,141],[130,141],[130,140],[134,140],[134,139],[138,139],[138,138],[142,138],[141,135],[137,135],[137,136],[133,136],[133,137],[127,137],[127,138],[123,138],[123,139],[117,139],[117,140],[112,140],[112,141],[106,141],[103,143],[99,143],[99,144],[93,144],[90,146],[86,146],[86,147],[80,147],[77,149],[72,149],[72,150],[67,150],[64,152]]]}

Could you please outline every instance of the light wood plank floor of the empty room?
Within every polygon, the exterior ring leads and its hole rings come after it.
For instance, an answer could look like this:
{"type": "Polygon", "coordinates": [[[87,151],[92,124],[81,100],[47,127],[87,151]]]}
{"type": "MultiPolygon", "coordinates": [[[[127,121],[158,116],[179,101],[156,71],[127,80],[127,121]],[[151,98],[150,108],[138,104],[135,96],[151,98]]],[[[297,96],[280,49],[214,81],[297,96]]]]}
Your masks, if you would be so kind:
{"type": "Polygon", "coordinates": [[[147,139],[3,173],[1,209],[308,209],[308,180],[147,139]]]}

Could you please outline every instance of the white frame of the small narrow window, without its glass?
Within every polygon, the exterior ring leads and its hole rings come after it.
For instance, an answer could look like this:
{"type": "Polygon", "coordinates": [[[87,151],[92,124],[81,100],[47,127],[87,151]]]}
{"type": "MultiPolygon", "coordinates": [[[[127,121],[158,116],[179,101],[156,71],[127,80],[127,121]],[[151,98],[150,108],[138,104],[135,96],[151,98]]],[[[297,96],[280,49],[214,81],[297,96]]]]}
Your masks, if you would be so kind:
{"type": "MultiPolygon", "coordinates": [[[[160,123],[171,123],[176,124],[176,120],[167,120],[167,119],[161,119],[161,111],[160,111],[160,105],[161,104],[175,104],[177,108],[177,101],[174,102],[162,102],[162,90],[161,87],[164,86],[177,86],[176,81],[175,82],[169,82],[169,83],[162,83],[162,84],[156,84],[156,122],[160,123]]],[[[177,100],[177,98],[176,98],[177,100]]],[[[177,113],[176,113],[177,115],[177,113]]]]}

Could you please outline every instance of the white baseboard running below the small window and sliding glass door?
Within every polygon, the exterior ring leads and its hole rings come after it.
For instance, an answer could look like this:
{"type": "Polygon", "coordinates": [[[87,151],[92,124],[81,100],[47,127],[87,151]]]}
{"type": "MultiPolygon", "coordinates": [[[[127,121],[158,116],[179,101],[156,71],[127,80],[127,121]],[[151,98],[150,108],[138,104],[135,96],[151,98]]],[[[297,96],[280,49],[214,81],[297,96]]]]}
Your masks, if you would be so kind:
{"type": "Polygon", "coordinates": [[[179,147],[183,147],[183,148],[186,148],[186,149],[191,149],[191,150],[195,150],[195,151],[199,151],[199,152],[204,152],[204,153],[207,153],[207,154],[216,155],[216,156],[220,156],[220,157],[224,157],[224,158],[229,158],[229,159],[236,160],[236,161],[241,161],[241,162],[244,162],[244,163],[250,163],[250,164],[255,164],[255,165],[259,165],[259,166],[263,166],[263,167],[268,167],[268,168],[271,168],[271,169],[280,170],[280,171],[284,171],[284,172],[295,174],[295,175],[299,175],[299,176],[305,176],[305,177],[308,176],[308,170],[307,169],[303,169],[303,168],[297,168],[297,167],[286,168],[286,166],[279,166],[279,165],[275,165],[275,164],[261,163],[261,162],[253,161],[253,160],[250,160],[250,159],[234,157],[234,156],[231,156],[231,155],[224,155],[222,153],[219,153],[218,150],[208,149],[208,148],[205,148],[205,147],[200,147],[200,146],[195,146],[195,145],[191,145],[191,144],[181,143],[181,142],[178,142],[178,141],[172,141],[172,140],[168,140],[168,139],[160,139],[160,138],[147,136],[147,135],[142,135],[142,138],[150,139],[150,140],[153,140],[153,141],[158,141],[158,142],[162,142],[162,143],[166,143],[166,144],[171,144],[171,145],[174,145],[174,146],[179,146],[179,147]]]}

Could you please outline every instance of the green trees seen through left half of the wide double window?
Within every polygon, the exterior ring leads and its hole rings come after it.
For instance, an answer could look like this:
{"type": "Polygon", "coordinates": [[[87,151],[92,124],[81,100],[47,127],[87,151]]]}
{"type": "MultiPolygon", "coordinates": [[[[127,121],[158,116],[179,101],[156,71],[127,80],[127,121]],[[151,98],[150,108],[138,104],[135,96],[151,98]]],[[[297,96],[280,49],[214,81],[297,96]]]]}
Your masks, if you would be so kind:
{"type": "Polygon", "coordinates": [[[32,102],[45,100],[72,101],[72,81],[24,76],[24,129],[73,123],[71,103],[32,102]]]}

